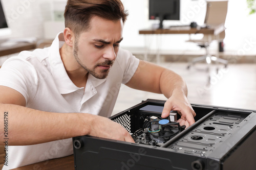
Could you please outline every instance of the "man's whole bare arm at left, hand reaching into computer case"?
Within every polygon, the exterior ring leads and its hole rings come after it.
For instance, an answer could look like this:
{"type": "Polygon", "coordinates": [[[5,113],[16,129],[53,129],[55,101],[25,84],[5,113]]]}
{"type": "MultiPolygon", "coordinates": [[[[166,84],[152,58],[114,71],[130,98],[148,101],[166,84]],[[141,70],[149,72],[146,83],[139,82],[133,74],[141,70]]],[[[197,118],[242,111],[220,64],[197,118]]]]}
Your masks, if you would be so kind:
{"type": "MultiPolygon", "coordinates": [[[[10,145],[29,145],[75,136],[92,135],[134,142],[131,135],[109,118],[87,113],[52,113],[25,107],[22,94],[0,86],[0,138],[4,140],[4,113],[8,112],[10,145]]],[[[0,142],[1,145],[4,142],[0,142]]]]}

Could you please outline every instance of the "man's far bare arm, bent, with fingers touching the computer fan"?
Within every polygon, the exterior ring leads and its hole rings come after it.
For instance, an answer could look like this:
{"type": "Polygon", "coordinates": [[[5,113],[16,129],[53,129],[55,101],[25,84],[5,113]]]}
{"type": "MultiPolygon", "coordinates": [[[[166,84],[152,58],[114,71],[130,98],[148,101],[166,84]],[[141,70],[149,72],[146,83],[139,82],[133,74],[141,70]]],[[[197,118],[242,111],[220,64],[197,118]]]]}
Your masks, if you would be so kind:
{"type": "Polygon", "coordinates": [[[171,110],[176,110],[181,114],[181,119],[178,120],[181,125],[188,127],[195,123],[196,113],[187,100],[186,83],[175,72],[141,60],[134,76],[126,85],[164,94],[168,100],[164,104],[162,117],[167,117],[171,110]]]}

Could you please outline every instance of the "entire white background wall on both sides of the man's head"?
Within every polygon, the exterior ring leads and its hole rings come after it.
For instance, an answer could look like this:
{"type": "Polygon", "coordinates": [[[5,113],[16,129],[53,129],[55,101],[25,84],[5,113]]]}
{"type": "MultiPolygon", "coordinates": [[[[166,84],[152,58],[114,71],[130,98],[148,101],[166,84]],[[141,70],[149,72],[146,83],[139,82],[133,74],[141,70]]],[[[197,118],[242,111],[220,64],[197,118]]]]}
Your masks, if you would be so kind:
{"type": "MultiPolygon", "coordinates": [[[[58,0],[64,1],[65,0],[58,0]]],[[[123,47],[144,47],[143,35],[139,30],[150,28],[156,21],[148,20],[148,0],[121,0],[129,17],[124,27],[123,47]]],[[[52,20],[53,0],[2,0],[7,20],[12,29],[12,37],[44,37],[44,21],[52,20]]],[[[181,0],[181,20],[164,22],[169,25],[186,25],[191,21],[202,25],[205,17],[205,0],[181,0]]],[[[256,14],[248,15],[246,1],[229,0],[226,18],[225,50],[237,53],[256,51],[256,14]]],[[[62,30],[60,30],[62,31],[62,30]]],[[[202,35],[197,35],[197,38],[202,35]]],[[[188,35],[164,35],[161,37],[163,50],[198,50],[194,43],[185,42],[188,35]]],[[[156,37],[150,38],[151,47],[155,48],[156,37]]],[[[255,52],[256,53],[256,52],[255,52]]]]}

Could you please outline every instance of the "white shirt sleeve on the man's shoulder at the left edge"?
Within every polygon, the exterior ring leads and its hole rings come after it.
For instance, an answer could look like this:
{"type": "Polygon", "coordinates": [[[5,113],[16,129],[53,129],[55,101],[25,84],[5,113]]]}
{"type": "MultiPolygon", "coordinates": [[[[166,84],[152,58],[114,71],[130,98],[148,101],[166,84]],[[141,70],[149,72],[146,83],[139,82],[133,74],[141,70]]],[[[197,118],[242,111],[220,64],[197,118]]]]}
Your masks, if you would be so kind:
{"type": "Polygon", "coordinates": [[[0,85],[10,87],[21,93],[28,103],[33,98],[38,85],[34,66],[21,57],[11,57],[0,69],[0,85]]]}

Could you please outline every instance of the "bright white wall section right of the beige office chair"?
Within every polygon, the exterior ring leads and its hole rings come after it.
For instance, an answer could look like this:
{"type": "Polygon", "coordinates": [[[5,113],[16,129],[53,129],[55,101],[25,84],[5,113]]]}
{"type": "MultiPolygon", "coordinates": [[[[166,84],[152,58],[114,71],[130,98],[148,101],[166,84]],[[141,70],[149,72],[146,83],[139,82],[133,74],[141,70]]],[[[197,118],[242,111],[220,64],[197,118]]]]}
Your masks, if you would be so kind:
{"type": "Polygon", "coordinates": [[[229,0],[225,46],[238,54],[256,53],[256,14],[248,15],[246,1],[229,0]]]}

